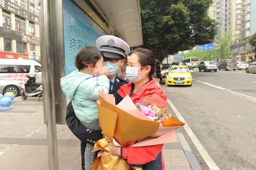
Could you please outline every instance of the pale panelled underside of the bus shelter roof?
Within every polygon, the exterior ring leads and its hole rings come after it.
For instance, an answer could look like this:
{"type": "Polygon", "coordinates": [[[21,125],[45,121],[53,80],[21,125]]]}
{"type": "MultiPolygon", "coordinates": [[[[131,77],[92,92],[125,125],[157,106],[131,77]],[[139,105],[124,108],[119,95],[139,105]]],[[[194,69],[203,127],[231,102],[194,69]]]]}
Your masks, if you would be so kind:
{"type": "Polygon", "coordinates": [[[139,0],[90,0],[116,35],[135,47],[143,44],[139,0]]]}

